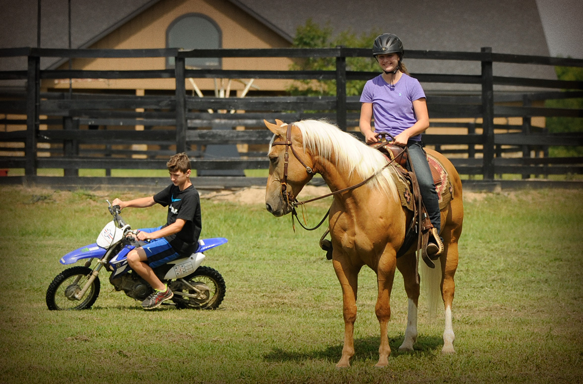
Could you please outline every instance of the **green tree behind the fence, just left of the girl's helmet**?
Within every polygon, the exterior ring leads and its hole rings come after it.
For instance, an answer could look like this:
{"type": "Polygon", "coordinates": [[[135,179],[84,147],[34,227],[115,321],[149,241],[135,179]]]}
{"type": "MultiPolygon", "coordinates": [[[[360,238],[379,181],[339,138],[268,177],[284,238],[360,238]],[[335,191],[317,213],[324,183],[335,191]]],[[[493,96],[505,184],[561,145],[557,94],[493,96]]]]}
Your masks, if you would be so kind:
{"type": "MultiPolygon", "coordinates": [[[[352,30],[342,31],[335,37],[332,36],[332,28],[329,24],[324,27],[308,19],[305,25],[296,30],[293,41],[294,48],[334,48],[342,45],[349,48],[371,48],[374,38],[379,31],[370,31],[357,35],[352,30]]],[[[335,58],[306,58],[291,65],[291,70],[336,70],[335,58]]],[[[346,70],[376,72],[377,63],[372,58],[346,58],[346,70]]],[[[363,90],[364,80],[349,80],[346,83],[346,94],[349,96],[360,95],[363,90]]],[[[288,91],[292,95],[305,96],[330,96],[336,94],[336,81],[334,80],[298,80],[292,84],[288,91]]]]}

